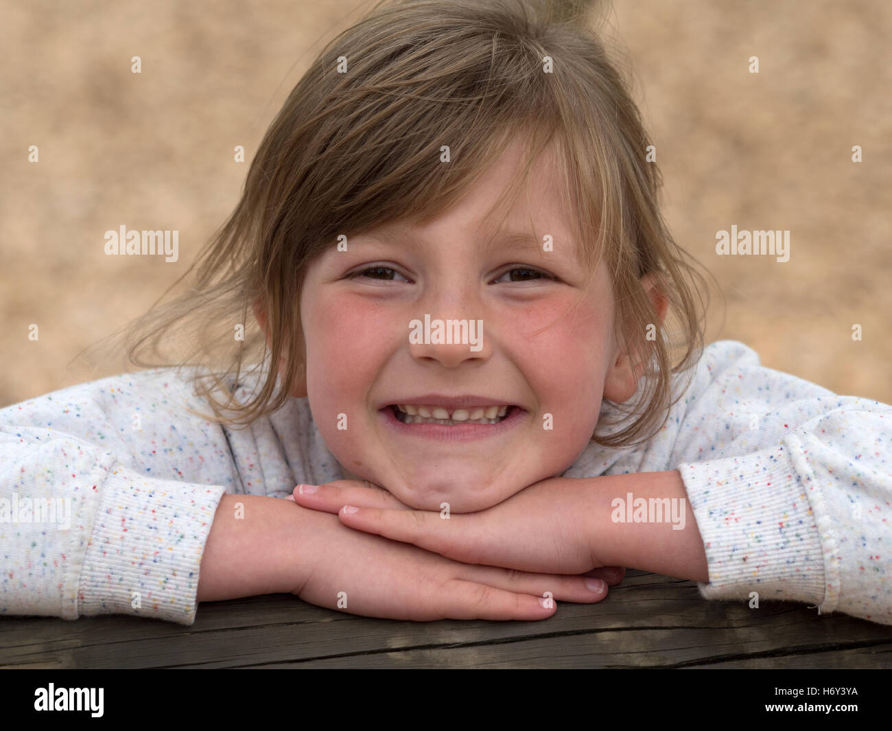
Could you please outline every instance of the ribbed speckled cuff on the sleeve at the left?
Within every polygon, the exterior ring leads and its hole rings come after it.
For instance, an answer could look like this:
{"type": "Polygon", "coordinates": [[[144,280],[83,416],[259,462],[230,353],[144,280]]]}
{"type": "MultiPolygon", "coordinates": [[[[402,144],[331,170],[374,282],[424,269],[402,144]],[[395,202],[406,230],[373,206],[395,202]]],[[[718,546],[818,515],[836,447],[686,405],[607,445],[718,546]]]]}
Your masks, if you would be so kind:
{"type": "Polygon", "coordinates": [[[195,620],[198,569],[222,486],[145,478],[116,461],[95,511],[78,614],[195,620]]]}

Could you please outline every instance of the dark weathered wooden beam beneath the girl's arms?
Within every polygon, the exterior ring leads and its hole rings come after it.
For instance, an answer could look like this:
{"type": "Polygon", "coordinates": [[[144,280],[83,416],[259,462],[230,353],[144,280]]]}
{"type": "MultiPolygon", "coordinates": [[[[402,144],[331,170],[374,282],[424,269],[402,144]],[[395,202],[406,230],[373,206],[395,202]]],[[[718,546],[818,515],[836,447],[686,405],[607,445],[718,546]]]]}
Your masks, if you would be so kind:
{"type": "MultiPolygon", "coordinates": [[[[746,602],[706,602],[693,582],[630,571],[604,602],[561,602],[558,614],[541,622],[368,619],[288,594],[202,604],[192,627],[112,615],[6,618],[0,666],[781,667],[769,656],[832,655],[889,641],[892,627],[819,617],[794,603],[750,610],[746,602]]],[[[838,667],[890,667],[882,665],[889,654],[879,651],[840,657],[871,664],[838,667]]]]}

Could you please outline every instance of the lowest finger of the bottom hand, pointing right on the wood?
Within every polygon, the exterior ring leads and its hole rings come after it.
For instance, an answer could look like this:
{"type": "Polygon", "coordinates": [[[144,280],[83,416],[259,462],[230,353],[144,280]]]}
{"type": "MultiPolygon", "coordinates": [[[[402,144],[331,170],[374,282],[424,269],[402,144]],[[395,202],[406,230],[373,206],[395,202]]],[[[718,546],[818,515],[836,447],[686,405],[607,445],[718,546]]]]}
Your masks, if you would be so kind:
{"type": "Polygon", "coordinates": [[[460,578],[450,579],[437,597],[436,613],[442,619],[547,619],[558,609],[556,602],[460,578]],[[546,606],[548,605],[548,606],[546,606]]]}

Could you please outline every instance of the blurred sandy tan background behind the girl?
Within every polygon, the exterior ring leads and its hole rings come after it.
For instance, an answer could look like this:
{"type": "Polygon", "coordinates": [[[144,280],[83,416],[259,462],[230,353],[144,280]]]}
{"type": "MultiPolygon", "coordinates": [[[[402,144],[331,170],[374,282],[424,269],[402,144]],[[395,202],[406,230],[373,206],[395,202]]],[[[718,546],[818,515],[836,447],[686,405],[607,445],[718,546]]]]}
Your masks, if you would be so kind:
{"type": "MultiPolygon", "coordinates": [[[[0,406],[128,370],[69,362],[186,270],[290,89],[368,5],[0,0],[0,406]],[[179,261],[106,256],[121,224],[178,229],[179,261]]],[[[892,403],[892,4],[616,0],[610,24],[666,220],[727,297],[713,295],[707,342],[742,340],[767,366],[892,403]],[[731,224],[789,229],[789,262],[717,256],[731,224]]]]}

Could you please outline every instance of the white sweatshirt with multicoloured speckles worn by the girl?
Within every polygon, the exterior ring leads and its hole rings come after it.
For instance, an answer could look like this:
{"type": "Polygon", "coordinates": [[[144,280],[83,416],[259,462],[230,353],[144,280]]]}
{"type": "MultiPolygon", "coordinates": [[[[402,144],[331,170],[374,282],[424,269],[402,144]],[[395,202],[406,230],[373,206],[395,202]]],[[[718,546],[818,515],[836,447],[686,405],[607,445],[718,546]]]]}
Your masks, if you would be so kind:
{"type": "MultiPolygon", "coordinates": [[[[343,479],[306,398],[244,429],[186,408],[210,411],[175,370],[156,369],[0,410],[0,613],[190,625],[224,493],[285,497],[343,479]]],[[[679,469],[706,549],[704,597],[757,591],[892,624],[890,452],[892,407],[764,368],[723,340],[657,436],[590,443],[564,476],[679,469]]]]}

